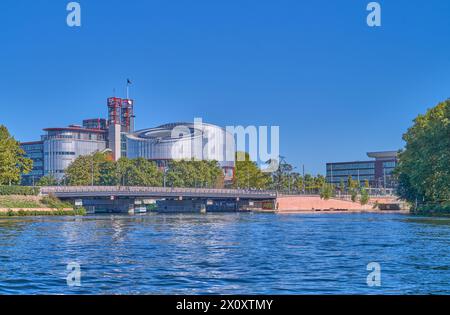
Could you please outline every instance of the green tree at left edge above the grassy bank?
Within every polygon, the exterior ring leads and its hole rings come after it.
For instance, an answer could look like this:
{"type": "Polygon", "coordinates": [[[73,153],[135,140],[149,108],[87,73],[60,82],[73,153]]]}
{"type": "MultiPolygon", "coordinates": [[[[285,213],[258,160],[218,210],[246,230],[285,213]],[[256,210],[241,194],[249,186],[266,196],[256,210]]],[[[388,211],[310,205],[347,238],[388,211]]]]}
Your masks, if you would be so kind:
{"type": "Polygon", "coordinates": [[[28,174],[32,169],[33,161],[25,157],[20,143],[0,125],[0,185],[18,184],[21,174],[28,174]]]}

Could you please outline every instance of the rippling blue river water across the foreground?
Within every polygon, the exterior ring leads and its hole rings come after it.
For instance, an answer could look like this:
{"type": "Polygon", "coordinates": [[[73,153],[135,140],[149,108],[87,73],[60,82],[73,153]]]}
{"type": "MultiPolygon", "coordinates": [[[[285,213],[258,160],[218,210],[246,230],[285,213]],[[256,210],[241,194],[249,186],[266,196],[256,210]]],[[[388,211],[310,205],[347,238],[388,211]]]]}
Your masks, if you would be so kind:
{"type": "Polygon", "coordinates": [[[400,214],[2,218],[0,294],[450,294],[449,246],[400,214]]]}

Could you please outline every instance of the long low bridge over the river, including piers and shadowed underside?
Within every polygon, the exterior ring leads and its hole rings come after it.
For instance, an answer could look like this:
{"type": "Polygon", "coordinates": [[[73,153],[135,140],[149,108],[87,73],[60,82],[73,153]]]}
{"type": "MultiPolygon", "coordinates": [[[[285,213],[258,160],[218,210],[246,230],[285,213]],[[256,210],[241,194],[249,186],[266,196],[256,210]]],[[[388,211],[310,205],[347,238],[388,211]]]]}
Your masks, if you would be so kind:
{"type": "Polygon", "coordinates": [[[52,186],[41,194],[82,204],[89,212],[140,211],[157,204],[158,211],[203,212],[274,209],[274,191],[127,186],[52,186]]]}

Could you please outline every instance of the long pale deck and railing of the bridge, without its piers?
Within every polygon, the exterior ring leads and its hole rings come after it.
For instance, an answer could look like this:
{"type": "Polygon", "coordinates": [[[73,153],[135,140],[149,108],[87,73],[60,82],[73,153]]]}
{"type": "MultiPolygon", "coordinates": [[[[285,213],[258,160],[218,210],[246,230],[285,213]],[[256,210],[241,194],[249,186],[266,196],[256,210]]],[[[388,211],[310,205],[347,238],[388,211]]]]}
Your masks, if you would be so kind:
{"type": "Polygon", "coordinates": [[[125,186],[53,186],[42,187],[44,195],[53,194],[58,198],[204,198],[204,199],[249,199],[274,200],[274,191],[205,188],[165,188],[165,187],[125,187],[125,186]]]}

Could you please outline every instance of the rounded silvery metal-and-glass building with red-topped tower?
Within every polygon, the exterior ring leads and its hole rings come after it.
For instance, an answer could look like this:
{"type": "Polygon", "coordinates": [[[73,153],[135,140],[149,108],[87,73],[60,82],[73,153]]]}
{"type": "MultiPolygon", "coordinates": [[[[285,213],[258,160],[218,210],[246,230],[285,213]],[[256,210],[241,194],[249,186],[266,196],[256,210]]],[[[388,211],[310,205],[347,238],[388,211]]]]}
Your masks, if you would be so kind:
{"type": "Polygon", "coordinates": [[[217,160],[225,180],[233,179],[234,137],[223,128],[210,124],[199,128],[194,124],[172,123],[135,132],[133,100],[110,97],[107,107],[108,119],[85,119],[82,126],[46,128],[41,141],[21,143],[26,156],[33,160],[33,170],[22,175],[22,184],[34,185],[47,175],[62,180],[67,167],[76,158],[105,150],[112,153],[114,160],[122,156],[143,157],[155,161],[161,168],[173,159],[217,160]],[[173,128],[188,132],[172,139],[173,128]],[[203,150],[205,147],[209,150],[203,150]],[[230,156],[227,161],[225,157],[230,156]]]}

